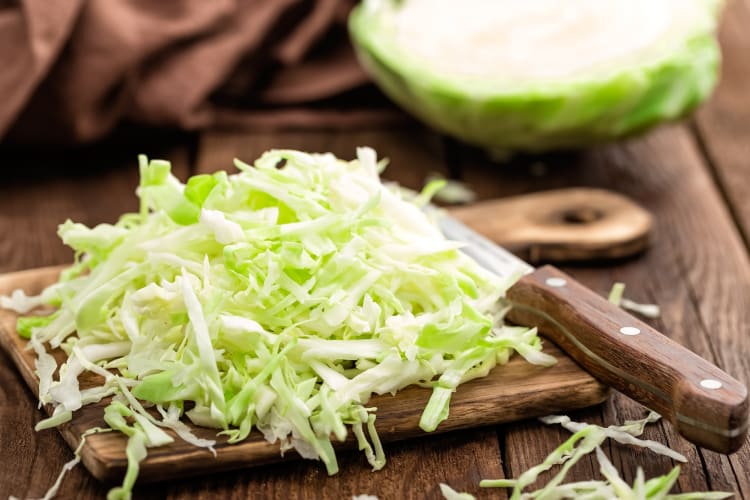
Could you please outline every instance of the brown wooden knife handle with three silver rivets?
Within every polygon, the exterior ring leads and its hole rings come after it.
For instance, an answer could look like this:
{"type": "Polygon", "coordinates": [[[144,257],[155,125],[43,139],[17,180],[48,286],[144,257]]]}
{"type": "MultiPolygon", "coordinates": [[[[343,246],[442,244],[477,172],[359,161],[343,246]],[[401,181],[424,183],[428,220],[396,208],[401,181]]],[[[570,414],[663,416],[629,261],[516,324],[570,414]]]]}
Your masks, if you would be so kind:
{"type": "Polygon", "coordinates": [[[747,388],[551,266],[507,292],[509,319],[535,325],[586,371],[667,418],[682,436],[721,453],[742,446],[747,388]]]}

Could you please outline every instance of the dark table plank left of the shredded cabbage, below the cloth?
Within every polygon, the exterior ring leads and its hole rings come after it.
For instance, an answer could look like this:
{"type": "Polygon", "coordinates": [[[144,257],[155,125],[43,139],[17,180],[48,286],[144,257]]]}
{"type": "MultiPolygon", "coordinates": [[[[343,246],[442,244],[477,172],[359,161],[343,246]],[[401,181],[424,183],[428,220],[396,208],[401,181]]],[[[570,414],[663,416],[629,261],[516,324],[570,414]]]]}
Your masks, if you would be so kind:
{"type": "MultiPolygon", "coordinates": [[[[0,186],[0,272],[70,262],[72,252],[57,237],[66,219],[93,226],[138,210],[137,154],[104,153],[71,153],[62,164],[59,154],[0,155],[8,167],[0,186]]],[[[185,149],[161,153],[176,175],[187,176],[185,149]]]]}

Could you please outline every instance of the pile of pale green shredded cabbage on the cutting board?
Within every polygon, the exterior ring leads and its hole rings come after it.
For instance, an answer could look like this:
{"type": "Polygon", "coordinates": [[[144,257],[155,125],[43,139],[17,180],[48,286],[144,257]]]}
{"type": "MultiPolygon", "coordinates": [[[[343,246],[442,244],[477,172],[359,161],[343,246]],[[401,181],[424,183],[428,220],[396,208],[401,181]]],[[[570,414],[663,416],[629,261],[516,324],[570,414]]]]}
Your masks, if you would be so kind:
{"type": "Polygon", "coordinates": [[[54,407],[38,429],[113,397],[105,421],[129,441],[110,498],[130,496],[147,448],[173,440],[165,429],[213,451],[185,418],[231,443],[257,429],[329,474],[331,441],[351,428],[378,469],[372,394],[432,387],[420,421],[432,431],[460,383],[513,351],[554,362],[535,329],[502,324],[510,283],[421,210],[435,186],[417,196],[382,184],[368,148],[351,162],[281,150],[235,165],[182,184],[168,162],[141,157],[139,213],[65,222],[74,265],[40,296],[1,304],[57,306],[18,322],[38,357],[39,400],[54,407]],[[101,385],[81,389],[84,371],[101,385]]]}

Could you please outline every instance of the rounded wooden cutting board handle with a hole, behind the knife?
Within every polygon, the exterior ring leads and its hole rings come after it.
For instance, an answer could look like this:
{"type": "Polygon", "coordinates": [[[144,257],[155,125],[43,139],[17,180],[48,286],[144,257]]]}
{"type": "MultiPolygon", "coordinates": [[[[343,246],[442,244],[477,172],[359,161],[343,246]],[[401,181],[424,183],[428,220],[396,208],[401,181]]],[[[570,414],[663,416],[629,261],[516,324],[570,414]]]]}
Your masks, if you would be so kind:
{"type": "Polygon", "coordinates": [[[570,188],[483,201],[451,215],[531,263],[628,257],[645,250],[651,214],[603,189],[570,188]]]}

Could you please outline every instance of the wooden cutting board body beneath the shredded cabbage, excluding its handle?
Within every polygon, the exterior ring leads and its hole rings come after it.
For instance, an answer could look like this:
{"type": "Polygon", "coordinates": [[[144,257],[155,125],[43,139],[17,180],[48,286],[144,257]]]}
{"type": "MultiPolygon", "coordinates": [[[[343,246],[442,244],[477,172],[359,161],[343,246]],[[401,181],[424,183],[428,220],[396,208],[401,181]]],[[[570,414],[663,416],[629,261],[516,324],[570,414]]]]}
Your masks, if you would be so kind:
{"type": "MultiPolygon", "coordinates": [[[[0,294],[16,288],[27,293],[38,293],[57,279],[61,268],[49,267],[21,271],[0,276],[0,294]]],[[[38,392],[34,374],[34,355],[25,349],[26,341],[15,332],[16,314],[0,310],[0,344],[13,359],[21,377],[29,388],[38,392]]],[[[450,417],[436,432],[446,432],[477,426],[488,426],[537,417],[550,413],[591,406],[604,401],[609,390],[591,375],[581,370],[549,341],[545,352],[555,356],[558,363],[542,368],[526,363],[519,356],[492,370],[484,378],[473,380],[458,388],[453,396],[450,417]]],[[[93,380],[81,377],[81,387],[93,380]]],[[[377,407],[375,426],[384,442],[427,435],[419,429],[419,417],[430,397],[430,390],[410,387],[396,396],[377,396],[368,406],[377,407]]],[[[58,429],[65,441],[75,448],[83,431],[106,426],[102,402],[77,411],[73,420],[58,429]]],[[[49,408],[47,408],[49,411],[49,408]]],[[[29,420],[34,416],[29,415],[29,420]]],[[[196,435],[216,439],[215,430],[191,426],[196,435]]],[[[46,430],[41,432],[56,432],[46,430]]],[[[94,434],[86,440],[82,460],[88,470],[103,481],[120,481],[127,465],[126,438],[119,433],[94,434]]],[[[337,448],[354,448],[356,441],[348,440],[337,448]]],[[[388,449],[386,446],[386,454],[388,449]]],[[[298,458],[293,452],[281,457],[278,444],[270,444],[256,431],[239,444],[230,445],[224,438],[217,439],[216,457],[205,449],[196,448],[175,438],[174,443],[149,449],[148,458],[141,464],[139,482],[193,476],[210,472],[238,469],[264,463],[298,458]]],[[[325,470],[321,464],[321,474],[325,470]]]]}

